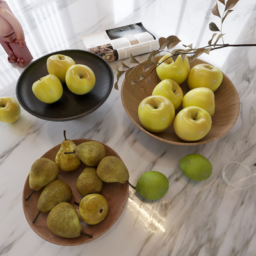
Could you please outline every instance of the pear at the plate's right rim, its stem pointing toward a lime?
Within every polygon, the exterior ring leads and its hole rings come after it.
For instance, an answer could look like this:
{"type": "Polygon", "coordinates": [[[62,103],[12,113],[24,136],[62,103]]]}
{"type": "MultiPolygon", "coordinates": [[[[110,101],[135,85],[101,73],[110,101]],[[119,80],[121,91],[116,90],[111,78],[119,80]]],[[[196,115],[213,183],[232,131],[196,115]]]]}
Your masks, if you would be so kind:
{"type": "Polygon", "coordinates": [[[97,166],[97,175],[104,182],[124,184],[129,180],[129,172],[125,164],[115,156],[104,157],[97,166]]]}

